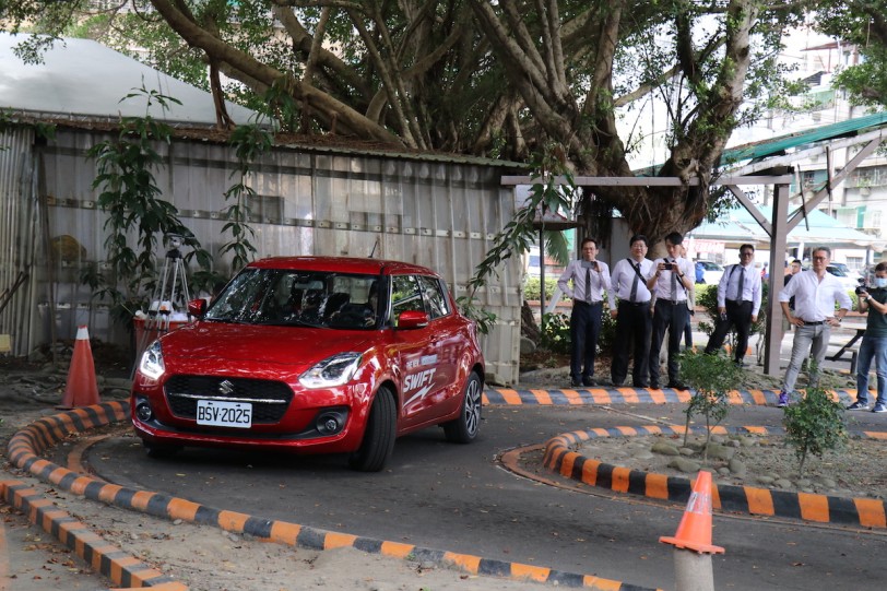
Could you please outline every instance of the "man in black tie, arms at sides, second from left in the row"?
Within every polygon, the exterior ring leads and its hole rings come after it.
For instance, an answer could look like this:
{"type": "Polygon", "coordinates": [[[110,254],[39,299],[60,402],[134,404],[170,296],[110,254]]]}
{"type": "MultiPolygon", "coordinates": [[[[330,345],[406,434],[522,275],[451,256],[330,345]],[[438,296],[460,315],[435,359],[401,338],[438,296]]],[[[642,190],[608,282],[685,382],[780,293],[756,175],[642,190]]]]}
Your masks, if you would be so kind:
{"type": "Polygon", "coordinates": [[[647,280],[653,276],[653,261],[647,256],[647,237],[637,234],[629,243],[631,256],[613,265],[610,291],[610,316],[616,319],[616,336],[613,342],[613,363],[610,377],[613,386],[625,383],[628,375],[628,357],[634,341],[634,366],[631,379],[635,388],[649,388],[648,359],[650,354],[650,289],[647,280]],[[617,300],[618,307],[614,305],[617,300]]]}

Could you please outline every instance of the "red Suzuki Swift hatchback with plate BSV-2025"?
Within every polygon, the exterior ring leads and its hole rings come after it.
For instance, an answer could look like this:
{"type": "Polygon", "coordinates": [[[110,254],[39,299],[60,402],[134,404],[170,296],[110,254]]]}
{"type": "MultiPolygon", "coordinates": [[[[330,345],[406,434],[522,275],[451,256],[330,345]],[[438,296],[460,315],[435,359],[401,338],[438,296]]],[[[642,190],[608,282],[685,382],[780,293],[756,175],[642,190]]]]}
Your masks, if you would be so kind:
{"type": "Polygon", "coordinates": [[[249,264],[197,320],[152,343],[132,385],[149,454],[181,447],[346,452],[381,470],[394,439],[481,421],[475,324],[429,269],[354,258],[249,264]]]}

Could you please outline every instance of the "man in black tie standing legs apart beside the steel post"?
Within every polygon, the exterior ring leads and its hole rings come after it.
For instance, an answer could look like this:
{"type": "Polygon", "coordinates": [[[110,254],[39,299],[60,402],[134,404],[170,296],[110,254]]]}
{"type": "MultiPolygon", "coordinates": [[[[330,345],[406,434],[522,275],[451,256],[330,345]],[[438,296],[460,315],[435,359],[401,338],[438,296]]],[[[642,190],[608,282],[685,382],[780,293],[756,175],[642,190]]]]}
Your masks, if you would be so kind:
{"type": "Polygon", "coordinates": [[[724,269],[718,283],[718,323],[706,345],[706,353],[721,348],[730,329],[736,328],[736,365],[742,366],[745,351],[748,347],[748,334],[752,324],[757,322],[760,311],[761,285],[760,273],[755,272],[755,247],[740,247],[738,264],[724,269]]]}

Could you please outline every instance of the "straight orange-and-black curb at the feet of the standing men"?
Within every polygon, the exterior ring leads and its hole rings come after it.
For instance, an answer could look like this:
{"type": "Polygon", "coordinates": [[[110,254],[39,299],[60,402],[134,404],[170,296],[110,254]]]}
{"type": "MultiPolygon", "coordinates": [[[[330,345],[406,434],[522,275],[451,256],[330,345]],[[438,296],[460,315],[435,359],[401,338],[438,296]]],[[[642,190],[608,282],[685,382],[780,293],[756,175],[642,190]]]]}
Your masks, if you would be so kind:
{"type": "MultiPolygon", "coordinates": [[[[843,402],[856,400],[855,390],[835,390],[835,400],[843,402]]],[[[484,390],[484,404],[527,405],[582,405],[582,404],[671,404],[687,403],[693,398],[691,390],[662,388],[560,388],[560,389],[513,389],[487,388],[484,390]]],[[[779,400],[777,390],[731,390],[726,394],[730,404],[774,406],[779,400]]]]}

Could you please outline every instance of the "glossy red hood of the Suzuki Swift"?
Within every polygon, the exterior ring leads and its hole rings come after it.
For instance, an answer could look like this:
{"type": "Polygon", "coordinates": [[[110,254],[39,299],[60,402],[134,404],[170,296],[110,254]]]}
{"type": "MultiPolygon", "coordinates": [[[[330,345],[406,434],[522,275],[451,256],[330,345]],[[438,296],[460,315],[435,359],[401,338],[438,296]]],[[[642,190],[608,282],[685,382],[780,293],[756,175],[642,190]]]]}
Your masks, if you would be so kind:
{"type": "Polygon", "coordinates": [[[379,332],[198,321],[165,335],[166,363],[200,359],[310,366],[336,353],[364,352],[379,332]],[[372,336],[369,336],[371,334],[372,336]]]}

